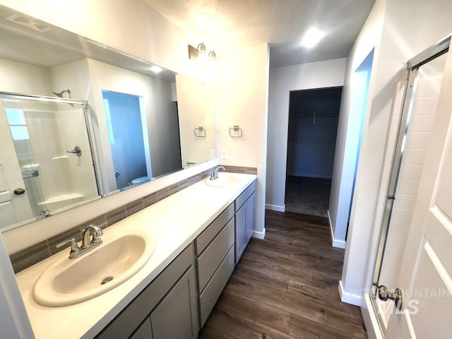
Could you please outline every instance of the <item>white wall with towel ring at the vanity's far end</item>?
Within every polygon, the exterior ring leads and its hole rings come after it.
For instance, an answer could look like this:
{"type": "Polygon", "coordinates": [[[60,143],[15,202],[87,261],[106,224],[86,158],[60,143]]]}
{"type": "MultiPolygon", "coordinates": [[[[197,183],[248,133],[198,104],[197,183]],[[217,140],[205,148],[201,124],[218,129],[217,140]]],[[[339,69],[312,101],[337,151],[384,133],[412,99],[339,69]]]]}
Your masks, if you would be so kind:
{"type": "Polygon", "coordinates": [[[265,235],[267,164],[268,44],[218,52],[216,104],[220,164],[257,167],[255,237],[265,235]],[[221,57],[220,57],[221,56],[221,57]],[[231,138],[239,125],[242,138],[231,138]],[[222,158],[222,151],[227,159],[222,158]]]}

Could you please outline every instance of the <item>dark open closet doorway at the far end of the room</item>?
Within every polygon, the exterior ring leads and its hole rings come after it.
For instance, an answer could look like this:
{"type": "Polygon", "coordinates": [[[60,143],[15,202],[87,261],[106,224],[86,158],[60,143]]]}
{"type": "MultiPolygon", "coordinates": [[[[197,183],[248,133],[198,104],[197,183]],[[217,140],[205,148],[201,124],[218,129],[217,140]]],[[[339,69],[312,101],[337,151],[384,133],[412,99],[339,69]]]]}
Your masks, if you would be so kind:
{"type": "Polygon", "coordinates": [[[285,210],[327,217],[342,86],[290,91],[285,210]]]}

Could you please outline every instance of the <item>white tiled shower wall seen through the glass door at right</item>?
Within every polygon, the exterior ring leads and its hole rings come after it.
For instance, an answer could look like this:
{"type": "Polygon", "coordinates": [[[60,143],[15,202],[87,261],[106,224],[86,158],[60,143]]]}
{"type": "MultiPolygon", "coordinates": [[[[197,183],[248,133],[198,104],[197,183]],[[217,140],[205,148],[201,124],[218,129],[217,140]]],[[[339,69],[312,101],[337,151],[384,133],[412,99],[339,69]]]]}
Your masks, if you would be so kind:
{"type": "Polygon", "coordinates": [[[398,272],[403,260],[422,168],[432,133],[444,61],[443,56],[422,66],[417,80],[379,280],[380,284],[386,285],[390,290],[398,287],[398,272]]]}

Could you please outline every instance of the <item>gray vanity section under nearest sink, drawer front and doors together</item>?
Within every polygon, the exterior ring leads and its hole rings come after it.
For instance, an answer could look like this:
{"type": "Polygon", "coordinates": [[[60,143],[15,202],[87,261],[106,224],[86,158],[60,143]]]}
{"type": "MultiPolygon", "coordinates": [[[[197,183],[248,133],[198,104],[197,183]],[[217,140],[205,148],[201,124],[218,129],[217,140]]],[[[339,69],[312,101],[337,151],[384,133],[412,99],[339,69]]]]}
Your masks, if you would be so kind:
{"type": "Polygon", "coordinates": [[[190,244],[97,339],[190,339],[197,338],[198,331],[194,245],[190,244]]]}

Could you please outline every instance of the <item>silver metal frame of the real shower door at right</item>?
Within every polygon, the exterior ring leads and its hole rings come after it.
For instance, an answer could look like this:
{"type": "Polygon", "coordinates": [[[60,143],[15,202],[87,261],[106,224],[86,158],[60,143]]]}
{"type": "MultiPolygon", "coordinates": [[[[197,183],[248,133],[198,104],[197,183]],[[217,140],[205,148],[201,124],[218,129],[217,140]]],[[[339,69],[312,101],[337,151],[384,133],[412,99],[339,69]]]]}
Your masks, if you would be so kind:
{"type": "Polygon", "coordinates": [[[386,194],[386,202],[383,210],[383,220],[381,222],[381,230],[379,237],[379,244],[376,251],[376,259],[374,266],[374,274],[371,280],[370,300],[373,307],[374,314],[378,319],[381,333],[385,333],[386,328],[383,325],[383,319],[379,313],[378,306],[376,304],[377,290],[379,286],[379,279],[381,275],[381,266],[383,263],[383,256],[386,248],[386,240],[388,237],[389,224],[391,222],[391,213],[393,210],[394,201],[396,198],[396,189],[398,184],[398,177],[400,174],[400,167],[403,160],[403,152],[405,148],[405,139],[408,133],[408,127],[410,126],[410,117],[412,112],[412,94],[414,90],[415,81],[419,73],[419,69],[422,65],[427,64],[429,61],[440,57],[442,54],[448,52],[451,44],[451,35],[448,35],[443,40],[434,44],[432,47],[425,49],[417,56],[408,61],[408,82],[405,87],[403,97],[402,114],[400,114],[400,120],[398,125],[398,132],[396,138],[396,145],[393,153],[393,162],[391,166],[391,172],[388,183],[388,190],[386,194]]]}

